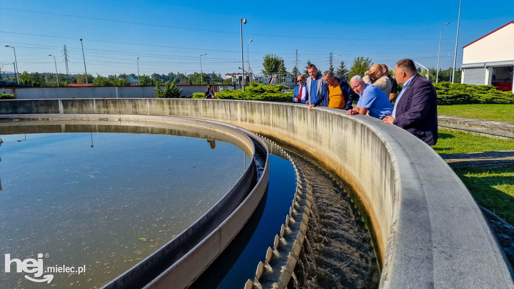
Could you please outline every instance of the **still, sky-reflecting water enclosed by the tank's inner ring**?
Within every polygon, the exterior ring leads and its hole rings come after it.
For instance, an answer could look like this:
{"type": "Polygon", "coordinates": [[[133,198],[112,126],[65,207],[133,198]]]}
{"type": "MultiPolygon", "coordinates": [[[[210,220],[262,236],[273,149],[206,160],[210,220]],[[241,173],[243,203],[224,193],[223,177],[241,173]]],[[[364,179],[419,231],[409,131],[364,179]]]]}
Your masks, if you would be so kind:
{"type": "MultiPolygon", "coordinates": [[[[243,173],[241,150],[223,141],[213,150],[214,141],[171,135],[6,135],[19,130],[0,127],[0,254],[86,265],[80,276],[53,274],[53,288],[104,285],[187,228],[243,173]]],[[[43,286],[24,275],[2,270],[1,287],[43,286]]]]}

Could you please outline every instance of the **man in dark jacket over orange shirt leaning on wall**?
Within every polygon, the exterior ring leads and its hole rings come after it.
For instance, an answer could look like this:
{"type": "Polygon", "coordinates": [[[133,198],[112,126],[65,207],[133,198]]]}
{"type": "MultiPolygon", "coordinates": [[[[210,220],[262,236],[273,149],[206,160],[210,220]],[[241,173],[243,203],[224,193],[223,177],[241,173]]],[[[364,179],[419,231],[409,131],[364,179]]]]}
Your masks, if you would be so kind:
{"type": "Polygon", "coordinates": [[[334,73],[326,70],[323,73],[323,86],[318,97],[310,99],[309,111],[314,106],[327,106],[333,109],[351,110],[354,92],[345,79],[334,77],[334,73]]]}

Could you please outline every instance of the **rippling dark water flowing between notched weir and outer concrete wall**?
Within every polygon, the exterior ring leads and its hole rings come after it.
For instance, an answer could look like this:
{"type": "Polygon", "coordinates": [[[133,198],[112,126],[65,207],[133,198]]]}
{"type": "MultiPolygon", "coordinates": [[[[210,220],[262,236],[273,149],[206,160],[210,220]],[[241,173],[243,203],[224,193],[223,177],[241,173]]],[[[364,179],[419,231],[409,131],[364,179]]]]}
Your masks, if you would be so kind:
{"type": "Polygon", "coordinates": [[[343,188],[309,160],[290,153],[314,197],[307,236],[290,288],[378,288],[368,229],[343,188]]]}

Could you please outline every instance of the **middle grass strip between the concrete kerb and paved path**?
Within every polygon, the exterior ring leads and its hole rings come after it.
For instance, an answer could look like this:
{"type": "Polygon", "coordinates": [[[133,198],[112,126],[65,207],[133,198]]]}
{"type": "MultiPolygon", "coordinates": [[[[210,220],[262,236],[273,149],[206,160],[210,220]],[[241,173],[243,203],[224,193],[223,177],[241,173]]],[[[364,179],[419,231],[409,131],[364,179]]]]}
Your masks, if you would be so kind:
{"type": "Polygon", "coordinates": [[[514,139],[503,140],[439,129],[439,139],[432,148],[438,154],[458,154],[514,150],[514,139]]]}

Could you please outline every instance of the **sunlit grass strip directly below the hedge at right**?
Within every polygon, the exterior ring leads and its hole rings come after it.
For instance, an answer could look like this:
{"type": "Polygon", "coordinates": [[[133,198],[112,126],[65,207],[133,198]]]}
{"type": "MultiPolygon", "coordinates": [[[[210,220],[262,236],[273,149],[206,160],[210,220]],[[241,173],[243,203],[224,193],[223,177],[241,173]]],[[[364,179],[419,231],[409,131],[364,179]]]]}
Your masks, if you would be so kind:
{"type": "Polygon", "coordinates": [[[460,116],[486,120],[514,122],[512,104],[457,104],[438,105],[438,115],[460,116]]]}

